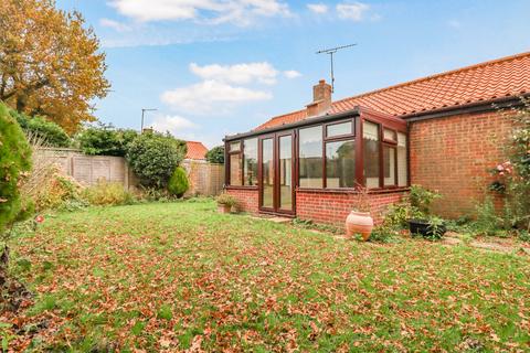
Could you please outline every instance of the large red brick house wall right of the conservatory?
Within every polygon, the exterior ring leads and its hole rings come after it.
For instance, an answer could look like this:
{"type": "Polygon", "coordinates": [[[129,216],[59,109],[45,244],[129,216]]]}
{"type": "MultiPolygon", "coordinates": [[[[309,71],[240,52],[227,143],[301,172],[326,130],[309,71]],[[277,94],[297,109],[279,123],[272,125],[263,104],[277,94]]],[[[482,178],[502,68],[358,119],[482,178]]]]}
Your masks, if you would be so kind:
{"type": "Polygon", "coordinates": [[[412,122],[411,182],[437,190],[435,213],[473,214],[494,180],[488,169],[504,160],[511,119],[498,113],[467,114],[412,122]]]}

